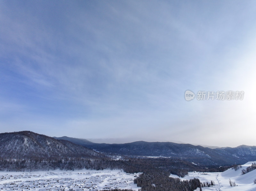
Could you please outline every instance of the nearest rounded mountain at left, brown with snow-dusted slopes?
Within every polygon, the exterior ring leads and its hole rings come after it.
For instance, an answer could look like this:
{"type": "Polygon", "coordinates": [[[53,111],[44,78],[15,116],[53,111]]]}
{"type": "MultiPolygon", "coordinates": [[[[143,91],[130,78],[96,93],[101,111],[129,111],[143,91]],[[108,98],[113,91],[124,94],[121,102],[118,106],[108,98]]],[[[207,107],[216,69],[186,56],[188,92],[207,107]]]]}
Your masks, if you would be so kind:
{"type": "Polygon", "coordinates": [[[0,134],[0,158],[95,158],[100,156],[84,146],[65,140],[56,140],[31,131],[0,134]]]}

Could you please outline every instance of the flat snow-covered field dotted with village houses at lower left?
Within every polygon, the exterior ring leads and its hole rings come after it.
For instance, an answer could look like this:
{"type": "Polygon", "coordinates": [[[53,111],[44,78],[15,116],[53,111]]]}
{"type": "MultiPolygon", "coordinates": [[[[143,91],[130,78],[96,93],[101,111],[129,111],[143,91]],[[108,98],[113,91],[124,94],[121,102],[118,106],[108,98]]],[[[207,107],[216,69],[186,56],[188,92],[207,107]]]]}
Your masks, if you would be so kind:
{"type": "Polygon", "coordinates": [[[41,172],[0,172],[0,191],[4,190],[138,190],[133,180],[140,173],[120,170],[79,170],[41,172]]]}

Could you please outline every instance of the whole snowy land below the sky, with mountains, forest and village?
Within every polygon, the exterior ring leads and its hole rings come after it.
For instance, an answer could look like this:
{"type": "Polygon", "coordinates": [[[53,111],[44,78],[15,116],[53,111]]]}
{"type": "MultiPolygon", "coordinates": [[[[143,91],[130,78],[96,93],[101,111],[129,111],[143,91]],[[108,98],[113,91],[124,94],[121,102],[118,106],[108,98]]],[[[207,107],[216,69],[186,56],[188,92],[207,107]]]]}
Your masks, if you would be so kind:
{"type": "Polygon", "coordinates": [[[0,134],[0,191],[224,191],[231,188],[229,179],[232,190],[256,189],[256,165],[234,165],[255,159],[252,146],[210,149],[169,142],[98,144],[68,139],[31,131],[0,134]]]}

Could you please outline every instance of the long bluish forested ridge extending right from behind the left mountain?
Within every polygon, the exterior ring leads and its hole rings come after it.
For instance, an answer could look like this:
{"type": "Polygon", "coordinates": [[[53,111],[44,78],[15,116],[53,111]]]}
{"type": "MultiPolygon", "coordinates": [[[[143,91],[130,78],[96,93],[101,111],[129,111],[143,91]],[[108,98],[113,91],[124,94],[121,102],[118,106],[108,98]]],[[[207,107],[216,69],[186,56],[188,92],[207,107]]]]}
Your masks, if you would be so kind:
{"type": "MultiPolygon", "coordinates": [[[[76,138],[65,137],[73,143],[102,152],[107,155],[174,157],[188,160],[201,165],[233,165],[244,164],[256,160],[255,146],[239,146],[236,148],[210,149],[192,144],[170,142],[137,141],[124,144],[92,143],[79,141],[76,138]]],[[[60,139],[58,137],[57,139],[60,139]]]]}

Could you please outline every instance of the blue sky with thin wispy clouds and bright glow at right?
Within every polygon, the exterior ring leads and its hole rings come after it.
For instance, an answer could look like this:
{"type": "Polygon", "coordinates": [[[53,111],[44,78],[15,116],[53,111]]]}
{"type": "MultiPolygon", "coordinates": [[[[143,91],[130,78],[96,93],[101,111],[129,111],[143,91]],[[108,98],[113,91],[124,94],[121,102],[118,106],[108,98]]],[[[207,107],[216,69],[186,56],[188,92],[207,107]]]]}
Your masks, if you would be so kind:
{"type": "Polygon", "coordinates": [[[237,0],[0,1],[0,133],[256,145],[255,12],[237,0]]]}

